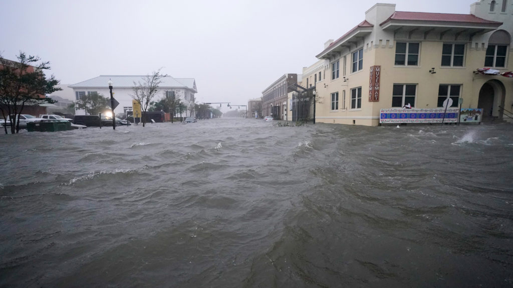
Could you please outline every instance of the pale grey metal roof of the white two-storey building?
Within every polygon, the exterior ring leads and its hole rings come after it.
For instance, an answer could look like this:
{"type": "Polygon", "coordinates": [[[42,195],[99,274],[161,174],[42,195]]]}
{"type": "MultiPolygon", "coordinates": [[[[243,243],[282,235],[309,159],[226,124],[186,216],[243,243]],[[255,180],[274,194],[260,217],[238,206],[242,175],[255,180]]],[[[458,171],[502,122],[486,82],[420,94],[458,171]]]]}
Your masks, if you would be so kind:
{"type": "MultiPolygon", "coordinates": [[[[100,75],[73,85],[69,88],[106,88],[108,87],[109,79],[112,81],[112,86],[118,88],[132,88],[135,83],[143,82],[147,75],[100,75]]],[[[194,78],[173,78],[165,76],[162,78],[160,88],[187,88],[196,91],[196,82],[194,78]]]]}

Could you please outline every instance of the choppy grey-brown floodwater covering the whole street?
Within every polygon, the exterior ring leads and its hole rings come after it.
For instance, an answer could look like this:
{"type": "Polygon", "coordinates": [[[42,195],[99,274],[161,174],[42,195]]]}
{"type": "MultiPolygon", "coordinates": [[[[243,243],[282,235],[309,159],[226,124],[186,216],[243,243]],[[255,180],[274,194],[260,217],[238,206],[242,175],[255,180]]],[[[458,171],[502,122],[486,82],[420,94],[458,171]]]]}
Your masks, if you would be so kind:
{"type": "Polygon", "coordinates": [[[0,136],[1,287],[513,286],[513,125],[0,136]]]}

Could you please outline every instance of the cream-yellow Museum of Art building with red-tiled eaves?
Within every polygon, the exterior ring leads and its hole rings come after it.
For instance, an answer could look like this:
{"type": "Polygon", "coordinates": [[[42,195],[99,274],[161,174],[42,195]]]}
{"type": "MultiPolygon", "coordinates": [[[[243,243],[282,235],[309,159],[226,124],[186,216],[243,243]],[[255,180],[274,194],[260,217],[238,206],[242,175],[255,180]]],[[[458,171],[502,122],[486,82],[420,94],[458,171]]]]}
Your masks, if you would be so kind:
{"type": "Polygon", "coordinates": [[[381,109],[437,109],[447,98],[451,107],[511,120],[504,109],[513,105],[513,3],[481,0],[470,14],[395,8],[374,5],[317,55],[328,63],[313,80],[318,122],[377,126],[381,109]]]}

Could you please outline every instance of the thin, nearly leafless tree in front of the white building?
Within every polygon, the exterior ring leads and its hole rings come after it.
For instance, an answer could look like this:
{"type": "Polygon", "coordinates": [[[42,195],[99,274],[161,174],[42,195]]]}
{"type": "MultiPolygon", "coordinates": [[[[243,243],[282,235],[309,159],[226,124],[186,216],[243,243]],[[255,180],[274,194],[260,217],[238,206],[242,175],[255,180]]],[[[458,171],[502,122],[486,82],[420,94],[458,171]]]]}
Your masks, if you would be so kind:
{"type": "Polygon", "coordinates": [[[146,111],[148,111],[148,106],[150,105],[152,98],[156,95],[157,89],[162,83],[163,78],[166,77],[166,75],[161,73],[161,70],[162,68],[159,68],[159,70],[153,72],[152,75],[146,75],[142,78],[142,81],[133,81],[132,91],[134,94],[131,96],[134,100],[139,102],[139,105],[141,105],[143,113],[143,127],[145,127],[146,124],[146,111]]]}

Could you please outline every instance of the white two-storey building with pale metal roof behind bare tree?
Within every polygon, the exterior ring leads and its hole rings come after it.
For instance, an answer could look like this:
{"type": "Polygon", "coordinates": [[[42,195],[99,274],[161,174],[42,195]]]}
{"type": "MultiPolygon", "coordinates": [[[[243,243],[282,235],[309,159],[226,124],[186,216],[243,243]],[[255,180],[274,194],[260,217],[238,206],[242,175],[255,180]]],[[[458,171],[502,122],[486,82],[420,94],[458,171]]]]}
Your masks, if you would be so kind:
{"type": "MultiPolygon", "coordinates": [[[[126,113],[127,111],[132,111],[132,87],[134,86],[134,81],[136,83],[142,83],[145,77],[145,75],[100,75],[98,77],[70,85],[69,88],[73,89],[75,100],[91,93],[100,93],[105,97],[110,98],[108,86],[110,79],[112,81],[112,92],[114,93],[114,98],[120,103],[120,105],[114,109],[114,113],[126,113]]],[[[198,93],[194,78],[173,78],[171,76],[165,76],[162,80],[163,81],[159,85],[153,101],[159,101],[162,98],[174,95],[175,97],[182,99],[183,104],[187,107],[185,114],[187,116],[194,116],[194,94],[198,93]]],[[[85,111],[79,110],[76,114],[83,115],[85,114],[85,111]]]]}

